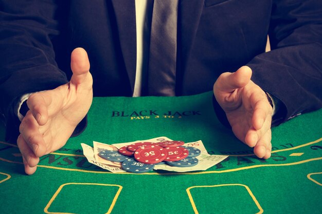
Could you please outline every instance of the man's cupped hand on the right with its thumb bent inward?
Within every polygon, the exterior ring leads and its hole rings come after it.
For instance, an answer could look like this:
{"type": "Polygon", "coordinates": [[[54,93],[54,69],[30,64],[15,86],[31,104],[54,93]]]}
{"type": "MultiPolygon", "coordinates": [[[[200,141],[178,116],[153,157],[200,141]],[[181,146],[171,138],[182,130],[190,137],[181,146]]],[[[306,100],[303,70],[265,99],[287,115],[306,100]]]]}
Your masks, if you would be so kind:
{"type": "Polygon", "coordinates": [[[222,73],[213,85],[213,93],[236,137],[254,147],[258,158],[268,159],[272,151],[273,108],[251,76],[252,69],[247,66],[234,73],[222,73]]]}

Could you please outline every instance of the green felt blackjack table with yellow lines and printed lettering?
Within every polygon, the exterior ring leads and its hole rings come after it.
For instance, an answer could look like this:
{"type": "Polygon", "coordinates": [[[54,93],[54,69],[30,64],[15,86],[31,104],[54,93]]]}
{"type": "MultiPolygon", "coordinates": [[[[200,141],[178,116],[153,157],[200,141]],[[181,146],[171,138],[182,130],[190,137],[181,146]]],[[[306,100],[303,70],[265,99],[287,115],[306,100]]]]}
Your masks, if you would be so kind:
{"type": "MultiPolygon", "coordinates": [[[[19,149],[0,142],[0,213],[321,213],[322,110],[272,129],[272,157],[258,159],[218,121],[211,92],[182,97],[95,98],[88,127],[24,174],[19,149]],[[228,154],[206,171],[111,173],[80,143],[156,137],[202,140],[228,154]]],[[[4,128],[0,128],[4,139],[4,128]]]]}

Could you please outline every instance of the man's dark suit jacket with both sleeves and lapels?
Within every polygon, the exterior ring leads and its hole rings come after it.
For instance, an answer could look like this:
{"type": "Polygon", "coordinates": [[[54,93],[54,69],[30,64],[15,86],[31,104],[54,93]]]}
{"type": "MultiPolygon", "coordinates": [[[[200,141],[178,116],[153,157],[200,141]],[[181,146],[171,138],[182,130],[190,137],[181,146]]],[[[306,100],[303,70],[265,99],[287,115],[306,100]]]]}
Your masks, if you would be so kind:
{"type": "MultiPolygon", "coordinates": [[[[135,82],[134,0],[0,1],[0,111],[7,137],[19,126],[13,104],[71,75],[70,52],[88,52],[95,96],[131,96],[135,82]]],[[[181,0],[176,95],[212,90],[243,65],[281,101],[278,123],[322,106],[320,0],[181,0]],[[265,53],[270,35],[272,51],[265,53]]],[[[149,95],[149,94],[145,94],[149,95]]]]}

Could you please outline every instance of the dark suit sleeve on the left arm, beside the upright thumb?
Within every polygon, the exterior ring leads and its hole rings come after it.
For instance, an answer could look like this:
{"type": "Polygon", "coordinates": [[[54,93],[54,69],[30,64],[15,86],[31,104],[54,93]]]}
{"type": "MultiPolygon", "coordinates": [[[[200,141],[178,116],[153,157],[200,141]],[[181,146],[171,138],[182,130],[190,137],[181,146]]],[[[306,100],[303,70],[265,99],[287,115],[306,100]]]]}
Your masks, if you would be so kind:
{"type": "Polygon", "coordinates": [[[20,123],[14,102],[23,94],[67,82],[51,43],[59,35],[56,9],[49,0],[0,0],[0,113],[9,142],[16,141],[20,123]]]}

